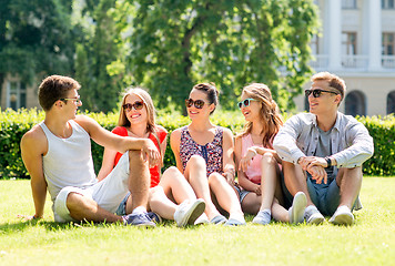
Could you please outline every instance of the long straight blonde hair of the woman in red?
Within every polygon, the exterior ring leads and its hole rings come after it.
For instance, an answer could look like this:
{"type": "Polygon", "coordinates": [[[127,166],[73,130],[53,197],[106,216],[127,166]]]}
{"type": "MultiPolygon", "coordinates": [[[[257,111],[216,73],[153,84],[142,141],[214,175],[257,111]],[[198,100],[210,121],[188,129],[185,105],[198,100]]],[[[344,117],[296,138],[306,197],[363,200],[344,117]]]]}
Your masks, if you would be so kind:
{"type": "Polygon", "coordinates": [[[155,133],[155,127],[156,127],[156,123],[155,123],[155,108],[153,106],[153,102],[152,99],[150,96],[150,94],[144,91],[141,88],[128,88],[126,92],[123,94],[122,98],[122,103],[121,103],[121,109],[120,109],[120,116],[118,119],[118,125],[119,126],[130,126],[130,122],[125,115],[125,111],[123,109],[123,104],[125,104],[125,100],[128,95],[131,94],[135,94],[141,98],[141,100],[143,100],[144,105],[146,108],[146,114],[148,114],[148,122],[146,122],[146,132],[149,133],[155,133]]]}

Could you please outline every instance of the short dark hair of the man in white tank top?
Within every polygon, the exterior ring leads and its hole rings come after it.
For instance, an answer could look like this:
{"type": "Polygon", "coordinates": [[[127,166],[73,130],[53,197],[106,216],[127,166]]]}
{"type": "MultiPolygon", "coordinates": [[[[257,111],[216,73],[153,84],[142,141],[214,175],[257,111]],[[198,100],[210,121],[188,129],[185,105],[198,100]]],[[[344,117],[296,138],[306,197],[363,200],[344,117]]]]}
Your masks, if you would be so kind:
{"type": "Polygon", "coordinates": [[[55,101],[67,98],[68,91],[79,90],[80,88],[80,83],[69,76],[47,76],[39,86],[40,105],[44,111],[49,111],[55,101]]]}

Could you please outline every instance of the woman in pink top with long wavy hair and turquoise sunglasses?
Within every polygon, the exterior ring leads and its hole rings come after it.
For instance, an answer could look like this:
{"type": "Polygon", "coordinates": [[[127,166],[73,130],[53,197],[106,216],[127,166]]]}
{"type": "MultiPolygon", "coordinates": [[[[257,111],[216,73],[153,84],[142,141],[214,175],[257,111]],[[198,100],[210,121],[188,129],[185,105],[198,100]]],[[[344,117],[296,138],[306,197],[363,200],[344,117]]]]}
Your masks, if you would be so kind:
{"type": "Polygon", "coordinates": [[[246,121],[235,140],[237,191],[243,211],[257,214],[255,224],[269,224],[272,216],[281,222],[302,223],[306,206],[303,193],[295,195],[290,211],[283,207],[282,161],[273,149],[283,120],[270,89],[263,83],[244,86],[239,108],[246,121]]]}

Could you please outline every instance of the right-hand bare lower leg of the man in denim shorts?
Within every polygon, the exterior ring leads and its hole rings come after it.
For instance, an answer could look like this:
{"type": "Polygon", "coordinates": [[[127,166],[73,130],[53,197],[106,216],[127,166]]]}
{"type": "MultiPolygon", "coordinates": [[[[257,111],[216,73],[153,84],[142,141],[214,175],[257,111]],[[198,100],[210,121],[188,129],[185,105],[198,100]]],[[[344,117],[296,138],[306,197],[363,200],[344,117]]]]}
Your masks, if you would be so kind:
{"type": "Polygon", "coordinates": [[[337,185],[341,188],[340,206],[353,207],[362,186],[362,167],[341,168],[337,174],[337,185]]]}

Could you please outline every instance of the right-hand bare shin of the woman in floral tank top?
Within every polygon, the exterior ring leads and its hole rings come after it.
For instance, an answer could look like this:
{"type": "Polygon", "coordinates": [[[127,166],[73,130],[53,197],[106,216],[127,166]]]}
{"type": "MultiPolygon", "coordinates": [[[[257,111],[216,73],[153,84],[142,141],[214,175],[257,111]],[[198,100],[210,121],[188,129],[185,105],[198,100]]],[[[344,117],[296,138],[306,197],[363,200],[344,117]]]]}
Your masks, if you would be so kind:
{"type": "Polygon", "coordinates": [[[230,216],[244,216],[235,191],[221,174],[212,173],[209,176],[209,185],[220,206],[226,211],[230,216]]]}

